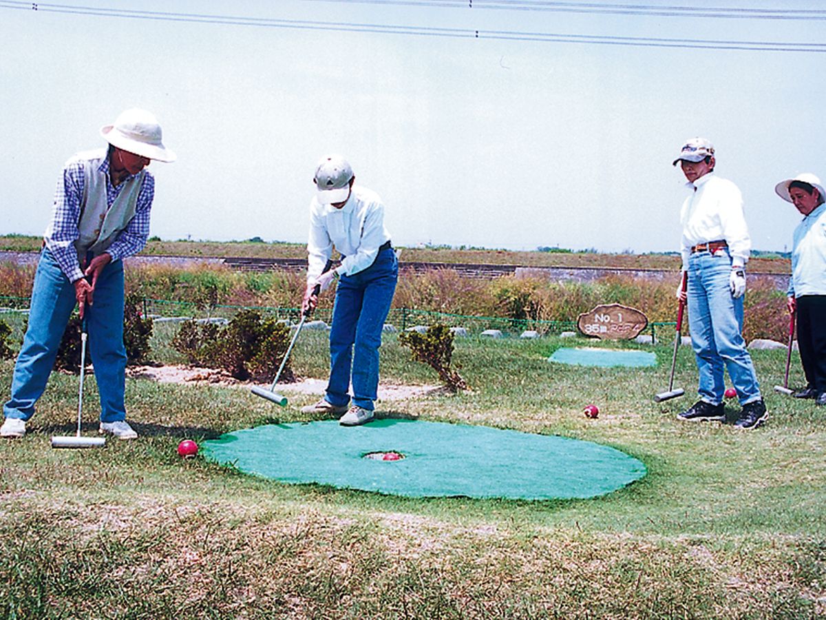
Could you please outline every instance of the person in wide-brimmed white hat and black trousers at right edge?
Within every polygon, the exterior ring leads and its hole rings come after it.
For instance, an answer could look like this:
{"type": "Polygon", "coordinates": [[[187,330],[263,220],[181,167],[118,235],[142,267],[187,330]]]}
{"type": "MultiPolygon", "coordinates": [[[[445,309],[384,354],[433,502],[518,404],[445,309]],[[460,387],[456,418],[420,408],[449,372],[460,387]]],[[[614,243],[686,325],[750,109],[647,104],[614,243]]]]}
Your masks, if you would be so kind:
{"type": "Polygon", "coordinates": [[[800,363],[806,387],[797,398],[826,405],[826,206],[824,186],[814,174],[798,174],[775,187],[795,205],[803,221],[795,228],[786,307],[796,314],[800,363]]]}

